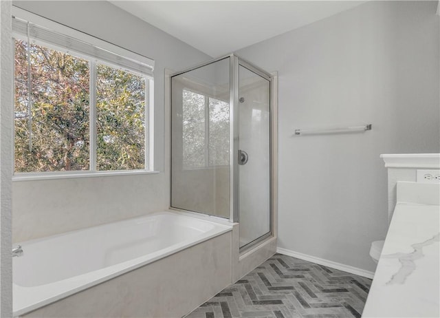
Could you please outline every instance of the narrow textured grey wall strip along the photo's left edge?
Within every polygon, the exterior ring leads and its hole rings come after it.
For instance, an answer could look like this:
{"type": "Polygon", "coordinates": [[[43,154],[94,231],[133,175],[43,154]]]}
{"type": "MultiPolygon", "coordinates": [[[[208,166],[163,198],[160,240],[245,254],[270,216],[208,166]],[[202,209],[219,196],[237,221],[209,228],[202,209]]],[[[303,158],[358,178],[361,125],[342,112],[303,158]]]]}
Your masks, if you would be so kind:
{"type": "Polygon", "coordinates": [[[0,1],[0,317],[12,316],[11,174],[12,41],[11,4],[0,1]]]}

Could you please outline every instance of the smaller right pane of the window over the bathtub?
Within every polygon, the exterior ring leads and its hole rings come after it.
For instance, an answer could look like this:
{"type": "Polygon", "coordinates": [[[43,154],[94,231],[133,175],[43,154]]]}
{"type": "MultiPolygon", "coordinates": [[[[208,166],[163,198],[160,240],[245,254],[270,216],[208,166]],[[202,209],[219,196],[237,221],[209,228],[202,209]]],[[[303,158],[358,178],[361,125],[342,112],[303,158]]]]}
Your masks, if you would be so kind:
{"type": "Polygon", "coordinates": [[[98,170],[145,169],[145,86],[142,76],[97,65],[98,170]]]}

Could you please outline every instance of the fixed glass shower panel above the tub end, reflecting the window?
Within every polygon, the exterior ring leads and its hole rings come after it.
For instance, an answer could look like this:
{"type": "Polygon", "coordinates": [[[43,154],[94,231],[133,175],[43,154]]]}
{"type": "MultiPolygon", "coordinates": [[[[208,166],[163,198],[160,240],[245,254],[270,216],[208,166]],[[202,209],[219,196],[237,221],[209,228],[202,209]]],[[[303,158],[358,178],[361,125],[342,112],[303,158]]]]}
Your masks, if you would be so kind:
{"type": "Polygon", "coordinates": [[[171,77],[170,206],[230,218],[230,58],[171,77]]]}

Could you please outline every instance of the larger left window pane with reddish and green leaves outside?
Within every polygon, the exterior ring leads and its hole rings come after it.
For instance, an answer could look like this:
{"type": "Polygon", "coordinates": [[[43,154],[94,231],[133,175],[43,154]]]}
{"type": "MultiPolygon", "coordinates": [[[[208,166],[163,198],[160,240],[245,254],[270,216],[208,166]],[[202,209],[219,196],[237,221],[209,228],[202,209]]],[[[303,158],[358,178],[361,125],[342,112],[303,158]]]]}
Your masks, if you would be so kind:
{"type": "Polygon", "coordinates": [[[41,45],[29,52],[30,83],[28,43],[15,41],[15,171],[89,169],[89,61],[41,45]]]}

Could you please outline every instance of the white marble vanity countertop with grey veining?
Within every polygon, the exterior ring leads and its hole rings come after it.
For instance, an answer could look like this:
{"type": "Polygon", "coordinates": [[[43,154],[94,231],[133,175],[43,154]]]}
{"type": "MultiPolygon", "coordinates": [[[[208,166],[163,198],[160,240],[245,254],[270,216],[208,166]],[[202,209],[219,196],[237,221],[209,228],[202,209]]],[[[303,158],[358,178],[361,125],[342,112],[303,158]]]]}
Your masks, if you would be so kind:
{"type": "Polygon", "coordinates": [[[439,205],[396,204],[362,317],[440,317],[439,227],[439,205]]]}

